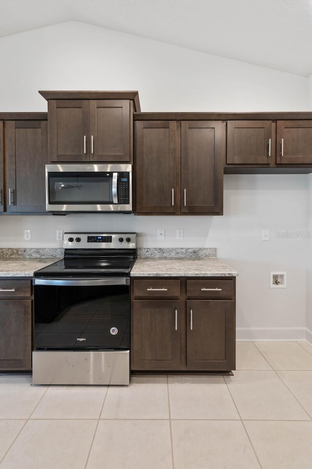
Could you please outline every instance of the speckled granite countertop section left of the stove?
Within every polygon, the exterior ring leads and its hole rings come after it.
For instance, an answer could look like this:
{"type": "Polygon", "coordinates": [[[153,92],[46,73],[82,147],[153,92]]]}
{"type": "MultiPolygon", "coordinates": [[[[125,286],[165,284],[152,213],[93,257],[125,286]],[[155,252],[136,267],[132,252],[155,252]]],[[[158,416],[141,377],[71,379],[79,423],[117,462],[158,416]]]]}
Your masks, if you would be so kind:
{"type": "Polygon", "coordinates": [[[0,277],[33,277],[35,270],[58,260],[55,257],[0,257],[0,277]]]}

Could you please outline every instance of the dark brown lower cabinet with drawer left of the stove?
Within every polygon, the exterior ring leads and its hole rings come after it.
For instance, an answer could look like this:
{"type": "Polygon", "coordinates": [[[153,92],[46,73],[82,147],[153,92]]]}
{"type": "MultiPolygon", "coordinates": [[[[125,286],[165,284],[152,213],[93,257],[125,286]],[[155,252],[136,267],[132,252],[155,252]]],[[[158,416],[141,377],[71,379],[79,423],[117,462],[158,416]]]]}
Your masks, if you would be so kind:
{"type": "Polygon", "coordinates": [[[30,280],[1,280],[0,288],[0,370],[30,370],[32,353],[30,280]]]}

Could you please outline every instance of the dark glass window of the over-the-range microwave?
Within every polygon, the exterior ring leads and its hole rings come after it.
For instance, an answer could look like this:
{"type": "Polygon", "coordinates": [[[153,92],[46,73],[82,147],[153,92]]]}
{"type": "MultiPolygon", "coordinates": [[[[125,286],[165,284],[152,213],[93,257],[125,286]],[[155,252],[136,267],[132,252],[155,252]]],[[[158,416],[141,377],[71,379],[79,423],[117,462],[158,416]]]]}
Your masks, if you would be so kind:
{"type": "Polygon", "coordinates": [[[113,172],[50,172],[50,204],[112,204],[113,172]]]}

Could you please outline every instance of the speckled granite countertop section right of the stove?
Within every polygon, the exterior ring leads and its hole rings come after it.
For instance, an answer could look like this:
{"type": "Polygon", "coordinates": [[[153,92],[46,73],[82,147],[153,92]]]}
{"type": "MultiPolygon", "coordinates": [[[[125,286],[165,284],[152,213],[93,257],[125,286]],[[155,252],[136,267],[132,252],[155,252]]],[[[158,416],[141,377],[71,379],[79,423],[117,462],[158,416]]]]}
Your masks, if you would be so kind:
{"type": "Polygon", "coordinates": [[[237,277],[238,272],[217,257],[138,257],[131,277],[237,277]]]}

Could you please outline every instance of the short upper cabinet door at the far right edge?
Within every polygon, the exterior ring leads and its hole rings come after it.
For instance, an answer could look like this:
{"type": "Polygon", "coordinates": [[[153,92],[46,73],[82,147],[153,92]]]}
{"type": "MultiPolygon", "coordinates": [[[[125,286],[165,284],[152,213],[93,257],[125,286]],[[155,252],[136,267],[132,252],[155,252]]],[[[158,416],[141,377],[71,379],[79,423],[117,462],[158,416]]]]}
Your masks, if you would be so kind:
{"type": "Polygon", "coordinates": [[[312,164],[312,121],[277,121],[276,163],[312,164]]]}

